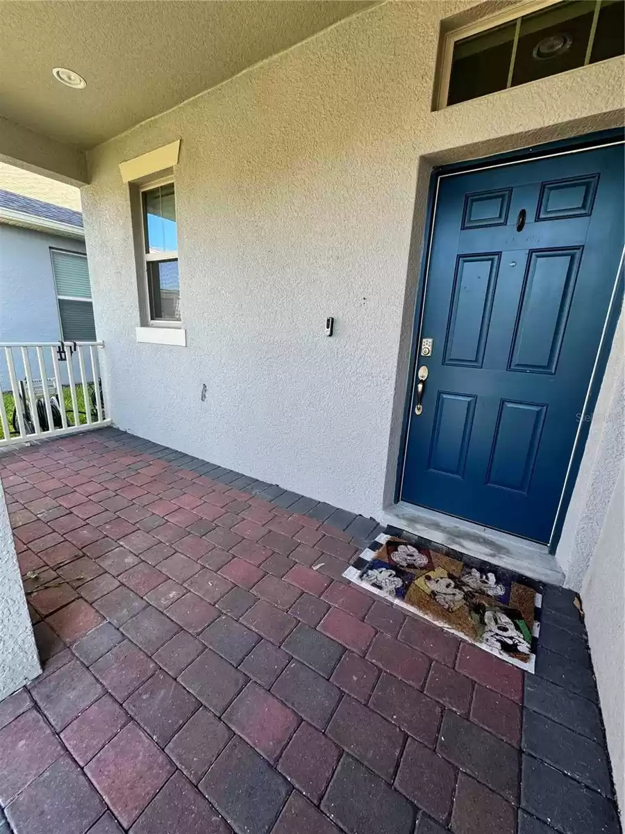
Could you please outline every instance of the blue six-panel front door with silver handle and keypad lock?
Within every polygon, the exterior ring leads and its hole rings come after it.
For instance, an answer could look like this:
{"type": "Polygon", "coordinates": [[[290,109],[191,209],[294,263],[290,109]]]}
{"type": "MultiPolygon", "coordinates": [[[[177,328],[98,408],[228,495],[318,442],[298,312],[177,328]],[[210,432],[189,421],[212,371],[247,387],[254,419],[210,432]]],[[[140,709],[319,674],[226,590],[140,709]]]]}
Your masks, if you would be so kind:
{"type": "Polygon", "coordinates": [[[622,145],[439,178],[402,500],[549,540],[622,245],[622,145]]]}

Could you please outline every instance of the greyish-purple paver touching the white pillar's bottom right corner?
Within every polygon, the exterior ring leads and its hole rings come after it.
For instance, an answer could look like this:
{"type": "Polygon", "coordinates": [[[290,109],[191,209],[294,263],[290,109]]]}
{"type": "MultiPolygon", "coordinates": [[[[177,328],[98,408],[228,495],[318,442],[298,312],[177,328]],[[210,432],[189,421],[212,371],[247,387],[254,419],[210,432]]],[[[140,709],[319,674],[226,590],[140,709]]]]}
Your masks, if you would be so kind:
{"type": "Polygon", "coordinates": [[[39,679],[31,688],[37,706],[57,731],[103,694],[102,686],[75,658],[39,679]]]}

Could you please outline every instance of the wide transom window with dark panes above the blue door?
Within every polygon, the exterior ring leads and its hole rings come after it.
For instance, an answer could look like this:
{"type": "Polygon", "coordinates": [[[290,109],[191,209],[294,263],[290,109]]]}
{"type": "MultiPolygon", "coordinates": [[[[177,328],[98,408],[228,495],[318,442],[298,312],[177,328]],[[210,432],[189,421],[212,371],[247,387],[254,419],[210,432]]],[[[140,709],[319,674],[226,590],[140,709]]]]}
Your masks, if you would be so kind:
{"type": "Polygon", "coordinates": [[[524,9],[448,33],[439,108],[625,53],[623,0],[532,0],[524,9]]]}

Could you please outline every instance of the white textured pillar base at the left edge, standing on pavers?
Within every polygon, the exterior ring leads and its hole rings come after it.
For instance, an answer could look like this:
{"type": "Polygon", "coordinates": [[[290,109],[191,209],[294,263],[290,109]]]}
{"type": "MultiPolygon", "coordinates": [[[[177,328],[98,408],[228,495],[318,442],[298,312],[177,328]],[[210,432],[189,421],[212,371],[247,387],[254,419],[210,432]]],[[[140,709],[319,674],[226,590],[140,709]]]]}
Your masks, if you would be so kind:
{"type": "Polygon", "coordinates": [[[41,671],[0,484],[0,701],[41,671]]]}

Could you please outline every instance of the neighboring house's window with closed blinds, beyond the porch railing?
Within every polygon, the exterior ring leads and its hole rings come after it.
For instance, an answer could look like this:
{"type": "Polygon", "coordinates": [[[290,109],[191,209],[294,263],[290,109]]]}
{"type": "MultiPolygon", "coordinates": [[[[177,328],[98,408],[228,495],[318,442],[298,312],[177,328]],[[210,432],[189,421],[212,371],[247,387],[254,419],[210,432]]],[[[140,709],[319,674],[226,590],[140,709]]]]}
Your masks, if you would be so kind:
{"type": "Polygon", "coordinates": [[[58,318],[64,342],[95,342],[96,325],[87,255],[50,249],[57,290],[58,318]]]}

